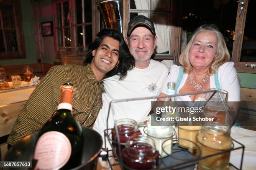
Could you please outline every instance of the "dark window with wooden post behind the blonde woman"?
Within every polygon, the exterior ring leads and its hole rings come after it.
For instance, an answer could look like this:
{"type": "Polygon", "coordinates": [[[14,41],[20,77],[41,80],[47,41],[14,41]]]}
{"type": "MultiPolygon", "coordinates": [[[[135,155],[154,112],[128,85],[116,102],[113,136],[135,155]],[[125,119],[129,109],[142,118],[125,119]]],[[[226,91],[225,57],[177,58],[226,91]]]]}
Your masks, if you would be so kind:
{"type": "MultiPolygon", "coordinates": [[[[237,72],[256,73],[255,0],[182,0],[182,27],[187,41],[202,24],[215,24],[223,34],[237,72]]],[[[184,33],[183,32],[183,33],[184,33]]]]}

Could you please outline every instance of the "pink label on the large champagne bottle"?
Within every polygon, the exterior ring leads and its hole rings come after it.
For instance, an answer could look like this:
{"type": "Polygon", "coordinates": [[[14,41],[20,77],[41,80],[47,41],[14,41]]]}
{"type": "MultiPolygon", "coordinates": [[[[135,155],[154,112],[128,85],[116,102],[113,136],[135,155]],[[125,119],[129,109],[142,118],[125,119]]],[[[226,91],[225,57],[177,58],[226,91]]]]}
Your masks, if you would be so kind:
{"type": "Polygon", "coordinates": [[[69,139],[62,133],[44,133],[36,144],[34,159],[38,160],[35,169],[55,170],[63,167],[71,155],[69,139]]]}

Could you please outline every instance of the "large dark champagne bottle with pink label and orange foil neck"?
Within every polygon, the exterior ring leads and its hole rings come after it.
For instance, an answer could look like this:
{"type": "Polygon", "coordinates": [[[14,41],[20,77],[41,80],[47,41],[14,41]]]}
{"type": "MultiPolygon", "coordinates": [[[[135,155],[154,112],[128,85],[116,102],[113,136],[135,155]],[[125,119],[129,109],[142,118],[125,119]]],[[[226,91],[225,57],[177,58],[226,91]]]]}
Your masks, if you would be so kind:
{"type": "Polygon", "coordinates": [[[72,116],[73,91],[71,83],[61,86],[57,113],[38,133],[35,169],[72,169],[81,164],[82,127],[72,116]]]}

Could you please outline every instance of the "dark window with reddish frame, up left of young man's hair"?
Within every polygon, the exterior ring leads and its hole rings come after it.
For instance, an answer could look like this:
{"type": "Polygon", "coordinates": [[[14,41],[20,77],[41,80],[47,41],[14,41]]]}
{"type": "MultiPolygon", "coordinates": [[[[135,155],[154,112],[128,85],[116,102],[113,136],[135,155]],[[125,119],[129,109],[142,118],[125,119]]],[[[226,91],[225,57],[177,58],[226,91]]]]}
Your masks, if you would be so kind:
{"type": "Polygon", "coordinates": [[[92,1],[53,2],[55,50],[62,46],[88,46],[92,43],[92,1]]]}

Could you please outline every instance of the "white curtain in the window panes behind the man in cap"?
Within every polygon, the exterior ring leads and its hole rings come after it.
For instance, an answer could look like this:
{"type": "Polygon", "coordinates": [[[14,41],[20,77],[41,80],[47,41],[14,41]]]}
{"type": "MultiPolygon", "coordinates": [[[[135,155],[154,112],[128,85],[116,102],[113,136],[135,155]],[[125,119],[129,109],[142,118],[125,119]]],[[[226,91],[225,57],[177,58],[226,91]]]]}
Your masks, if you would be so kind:
{"type": "MultiPolygon", "coordinates": [[[[150,10],[150,0],[134,0],[136,9],[138,10],[150,10]]],[[[152,0],[152,7],[156,9],[167,9],[171,7],[170,4],[171,1],[169,0],[152,0]],[[159,3],[161,1],[161,3],[159,3]],[[164,3],[163,3],[164,2],[164,3]],[[161,4],[161,5],[160,5],[161,4]]],[[[155,30],[156,30],[156,35],[158,37],[157,40],[157,47],[156,47],[156,52],[157,53],[162,53],[169,51],[169,42],[170,42],[170,34],[171,34],[171,14],[168,13],[152,13],[151,14],[151,20],[154,22],[155,30]],[[159,18],[161,19],[159,21],[159,18]],[[157,20],[157,22],[156,22],[157,20]]],[[[144,15],[148,17],[148,13],[138,13],[138,15],[144,15]]]]}

